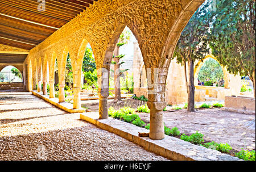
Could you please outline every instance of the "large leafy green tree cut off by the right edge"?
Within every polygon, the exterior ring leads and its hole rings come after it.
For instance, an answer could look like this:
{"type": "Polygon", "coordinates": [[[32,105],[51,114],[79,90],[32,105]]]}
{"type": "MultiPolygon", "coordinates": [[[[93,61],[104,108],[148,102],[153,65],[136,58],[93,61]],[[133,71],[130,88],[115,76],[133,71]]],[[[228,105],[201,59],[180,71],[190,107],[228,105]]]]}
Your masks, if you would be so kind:
{"type": "Polygon", "coordinates": [[[229,73],[248,75],[255,97],[255,1],[216,0],[210,47],[229,73]]]}

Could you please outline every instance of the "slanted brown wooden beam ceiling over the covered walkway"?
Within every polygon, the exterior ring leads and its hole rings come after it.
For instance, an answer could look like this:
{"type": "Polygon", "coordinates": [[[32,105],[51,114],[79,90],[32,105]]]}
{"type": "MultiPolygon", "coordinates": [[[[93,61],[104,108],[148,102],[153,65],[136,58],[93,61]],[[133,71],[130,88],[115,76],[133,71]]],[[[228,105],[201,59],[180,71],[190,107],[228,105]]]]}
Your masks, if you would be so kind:
{"type": "MultiPolygon", "coordinates": [[[[0,44],[30,50],[98,0],[0,0],[0,44]]],[[[1,63],[23,63],[27,53],[0,52],[1,63]]]]}

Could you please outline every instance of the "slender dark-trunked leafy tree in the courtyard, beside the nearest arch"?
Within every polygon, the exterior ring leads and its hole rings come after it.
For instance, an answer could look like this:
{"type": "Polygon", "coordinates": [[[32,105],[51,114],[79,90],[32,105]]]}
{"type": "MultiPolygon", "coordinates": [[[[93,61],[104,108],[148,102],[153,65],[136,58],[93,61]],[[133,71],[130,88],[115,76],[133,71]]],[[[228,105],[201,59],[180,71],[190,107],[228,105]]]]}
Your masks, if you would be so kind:
{"type": "Polygon", "coordinates": [[[184,66],[185,83],[188,92],[187,111],[195,111],[194,62],[195,60],[203,60],[205,55],[209,53],[207,37],[211,21],[211,14],[208,10],[209,5],[210,2],[205,2],[189,20],[181,33],[174,52],[177,62],[184,66]]]}

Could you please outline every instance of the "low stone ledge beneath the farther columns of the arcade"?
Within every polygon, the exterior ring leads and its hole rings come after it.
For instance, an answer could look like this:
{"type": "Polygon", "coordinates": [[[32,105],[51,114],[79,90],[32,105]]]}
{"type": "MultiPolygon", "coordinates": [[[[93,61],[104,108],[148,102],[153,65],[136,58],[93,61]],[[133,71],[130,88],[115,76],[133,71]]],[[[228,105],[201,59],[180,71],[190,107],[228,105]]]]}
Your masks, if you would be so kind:
{"type": "Polygon", "coordinates": [[[84,113],[85,109],[80,108],[80,109],[73,109],[73,104],[68,103],[68,102],[63,102],[59,103],[59,99],[57,98],[49,98],[49,95],[43,95],[43,93],[38,93],[37,91],[32,91],[32,94],[35,95],[36,97],[39,97],[43,100],[45,100],[48,103],[53,104],[54,106],[60,108],[61,110],[64,110],[66,112],[69,112],[71,114],[73,113],[84,113]]]}

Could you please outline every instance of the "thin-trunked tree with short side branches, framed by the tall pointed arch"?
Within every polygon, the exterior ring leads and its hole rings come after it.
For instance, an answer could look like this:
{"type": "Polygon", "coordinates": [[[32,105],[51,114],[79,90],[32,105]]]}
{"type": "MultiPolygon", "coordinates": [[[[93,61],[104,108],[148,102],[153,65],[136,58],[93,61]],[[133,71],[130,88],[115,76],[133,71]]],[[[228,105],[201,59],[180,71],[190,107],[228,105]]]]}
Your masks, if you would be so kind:
{"type": "Polygon", "coordinates": [[[120,66],[125,62],[120,62],[121,58],[124,58],[125,55],[119,54],[119,48],[123,45],[127,44],[128,40],[130,40],[131,32],[125,28],[125,30],[121,33],[118,39],[118,43],[115,45],[114,54],[113,54],[113,61],[112,64],[114,64],[114,83],[115,83],[115,97],[114,97],[114,103],[122,103],[121,99],[121,89],[120,89],[120,76],[123,74],[123,72],[126,72],[129,69],[126,70],[120,70],[120,66]]]}

